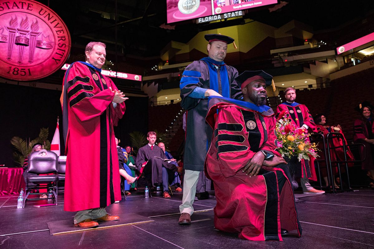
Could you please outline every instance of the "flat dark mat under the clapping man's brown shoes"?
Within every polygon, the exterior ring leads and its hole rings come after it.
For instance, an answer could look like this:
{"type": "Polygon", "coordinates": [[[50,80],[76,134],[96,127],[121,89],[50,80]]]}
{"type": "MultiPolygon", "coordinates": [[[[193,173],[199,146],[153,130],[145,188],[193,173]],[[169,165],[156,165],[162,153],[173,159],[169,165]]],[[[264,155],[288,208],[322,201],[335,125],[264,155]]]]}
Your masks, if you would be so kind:
{"type": "Polygon", "coordinates": [[[98,221],[98,227],[90,227],[90,228],[83,228],[83,227],[75,227],[73,224],[73,219],[71,220],[63,220],[63,221],[52,221],[47,222],[49,234],[56,235],[56,234],[64,234],[64,233],[75,233],[80,231],[87,231],[87,230],[95,230],[101,228],[108,228],[108,227],[119,227],[122,225],[131,225],[137,223],[144,223],[144,222],[151,222],[154,221],[148,217],[144,217],[134,213],[125,213],[125,214],[116,214],[120,217],[117,221],[98,221]]]}

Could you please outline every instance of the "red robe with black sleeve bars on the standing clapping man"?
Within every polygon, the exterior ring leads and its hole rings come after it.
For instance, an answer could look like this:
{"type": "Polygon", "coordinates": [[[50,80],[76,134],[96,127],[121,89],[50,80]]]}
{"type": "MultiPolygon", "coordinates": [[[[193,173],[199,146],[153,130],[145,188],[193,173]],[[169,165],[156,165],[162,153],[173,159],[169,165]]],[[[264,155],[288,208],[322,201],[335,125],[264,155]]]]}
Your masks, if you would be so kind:
{"type": "Polygon", "coordinates": [[[103,208],[121,199],[113,125],[125,103],[113,107],[109,87],[117,87],[87,64],[74,62],[64,77],[65,211],[103,208]]]}

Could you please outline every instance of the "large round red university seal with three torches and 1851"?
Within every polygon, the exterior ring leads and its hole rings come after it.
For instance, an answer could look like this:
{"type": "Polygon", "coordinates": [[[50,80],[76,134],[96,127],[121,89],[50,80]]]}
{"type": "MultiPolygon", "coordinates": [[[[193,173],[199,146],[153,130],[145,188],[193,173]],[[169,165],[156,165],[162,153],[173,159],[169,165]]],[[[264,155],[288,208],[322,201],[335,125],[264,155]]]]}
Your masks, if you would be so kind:
{"type": "Polygon", "coordinates": [[[33,81],[59,70],[70,54],[70,33],[49,7],[33,0],[0,0],[0,76],[33,81]]]}

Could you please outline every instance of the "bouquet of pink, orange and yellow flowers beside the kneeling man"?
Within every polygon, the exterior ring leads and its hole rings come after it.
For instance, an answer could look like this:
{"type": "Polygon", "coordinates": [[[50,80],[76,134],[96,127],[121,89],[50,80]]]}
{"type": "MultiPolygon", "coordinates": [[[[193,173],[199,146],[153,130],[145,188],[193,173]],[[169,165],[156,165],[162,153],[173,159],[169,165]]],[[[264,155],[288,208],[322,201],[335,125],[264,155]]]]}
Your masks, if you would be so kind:
{"type": "Polygon", "coordinates": [[[277,136],[276,146],[278,152],[284,156],[297,156],[299,161],[301,159],[309,160],[309,156],[314,158],[317,155],[317,144],[310,143],[308,131],[303,127],[296,127],[289,118],[289,114],[282,111],[279,114],[275,126],[275,133],[277,136]]]}

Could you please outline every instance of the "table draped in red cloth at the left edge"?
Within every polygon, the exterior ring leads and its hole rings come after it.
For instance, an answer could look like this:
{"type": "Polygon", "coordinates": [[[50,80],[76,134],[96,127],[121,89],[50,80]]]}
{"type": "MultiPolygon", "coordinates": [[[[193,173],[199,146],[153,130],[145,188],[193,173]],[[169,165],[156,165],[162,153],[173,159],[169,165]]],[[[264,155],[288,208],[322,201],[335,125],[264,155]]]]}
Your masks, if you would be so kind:
{"type": "Polygon", "coordinates": [[[25,188],[23,168],[0,168],[0,195],[18,194],[25,188]]]}

